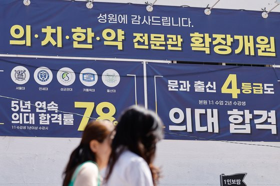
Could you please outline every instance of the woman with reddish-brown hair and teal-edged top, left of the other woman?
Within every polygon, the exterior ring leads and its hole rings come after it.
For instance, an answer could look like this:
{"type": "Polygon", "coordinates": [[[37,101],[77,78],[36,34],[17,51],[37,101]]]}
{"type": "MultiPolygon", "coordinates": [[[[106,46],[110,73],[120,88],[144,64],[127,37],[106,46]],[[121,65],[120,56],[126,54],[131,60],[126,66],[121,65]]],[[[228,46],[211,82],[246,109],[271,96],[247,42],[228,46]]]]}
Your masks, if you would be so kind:
{"type": "Polygon", "coordinates": [[[99,169],[107,165],[113,128],[111,122],[101,120],[86,125],[63,173],[63,186],[100,185],[99,169]]]}

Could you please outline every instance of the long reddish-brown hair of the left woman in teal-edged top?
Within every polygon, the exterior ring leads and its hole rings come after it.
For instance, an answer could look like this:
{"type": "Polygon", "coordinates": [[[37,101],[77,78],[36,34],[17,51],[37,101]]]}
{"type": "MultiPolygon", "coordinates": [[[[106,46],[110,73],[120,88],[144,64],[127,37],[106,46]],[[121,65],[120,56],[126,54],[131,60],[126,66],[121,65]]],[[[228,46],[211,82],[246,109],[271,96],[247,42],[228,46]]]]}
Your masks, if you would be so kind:
{"type": "Polygon", "coordinates": [[[69,162],[63,172],[64,180],[62,186],[68,186],[76,167],[83,162],[96,162],[95,154],[90,150],[89,142],[97,140],[102,143],[110,134],[110,130],[102,124],[102,121],[90,121],[86,125],[79,146],[71,153],[69,162]]]}

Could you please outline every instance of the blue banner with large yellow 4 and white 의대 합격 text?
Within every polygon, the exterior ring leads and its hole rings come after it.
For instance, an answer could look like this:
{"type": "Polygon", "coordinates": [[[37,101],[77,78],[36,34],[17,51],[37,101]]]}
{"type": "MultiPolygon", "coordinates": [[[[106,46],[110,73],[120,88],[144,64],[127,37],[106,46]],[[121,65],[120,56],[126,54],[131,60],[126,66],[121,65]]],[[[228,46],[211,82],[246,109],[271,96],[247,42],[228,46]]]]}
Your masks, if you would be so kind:
{"type": "Polygon", "coordinates": [[[280,141],[277,68],[148,63],[147,77],[166,139],[280,141]]]}

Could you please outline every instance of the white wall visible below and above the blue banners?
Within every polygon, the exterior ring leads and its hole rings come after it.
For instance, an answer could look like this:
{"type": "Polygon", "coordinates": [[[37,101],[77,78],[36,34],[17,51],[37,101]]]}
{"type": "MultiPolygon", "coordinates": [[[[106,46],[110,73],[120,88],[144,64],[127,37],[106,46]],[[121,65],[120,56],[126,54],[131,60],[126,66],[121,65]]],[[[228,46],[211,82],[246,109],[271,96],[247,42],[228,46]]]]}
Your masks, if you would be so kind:
{"type": "MultiPolygon", "coordinates": [[[[205,7],[215,1],[176,0],[174,3],[205,7]]],[[[144,0],[137,2],[144,3],[144,0]]],[[[156,4],[170,5],[170,2],[159,0],[156,4]]],[[[274,6],[273,2],[221,0],[217,7],[253,10],[266,7],[269,10],[274,6]]],[[[275,11],[279,9],[278,6],[275,11]]],[[[79,140],[0,137],[0,186],[61,186],[62,170],[79,140]]],[[[271,142],[257,144],[279,146],[279,143],[271,142]]],[[[156,165],[162,165],[163,174],[160,186],[219,186],[220,174],[241,172],[248,173],[244,179],[247,186],[280,185],[280,151],[276,148],[211,141],[163,140],[158,145],[157,155],[156,165]]]]}

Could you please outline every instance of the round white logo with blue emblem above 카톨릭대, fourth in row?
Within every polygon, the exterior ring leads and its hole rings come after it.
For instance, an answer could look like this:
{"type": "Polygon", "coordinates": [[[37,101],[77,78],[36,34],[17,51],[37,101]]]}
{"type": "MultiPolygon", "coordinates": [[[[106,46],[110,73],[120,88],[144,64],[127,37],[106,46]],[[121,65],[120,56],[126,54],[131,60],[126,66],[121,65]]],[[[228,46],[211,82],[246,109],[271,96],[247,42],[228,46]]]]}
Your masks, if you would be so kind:
{"type": "Polygon", "coordinates": [[[79,74],[80,82],[88,87],[95,85],[97,79],[97,73],[91,68],[85,68],[79,74]]]}

